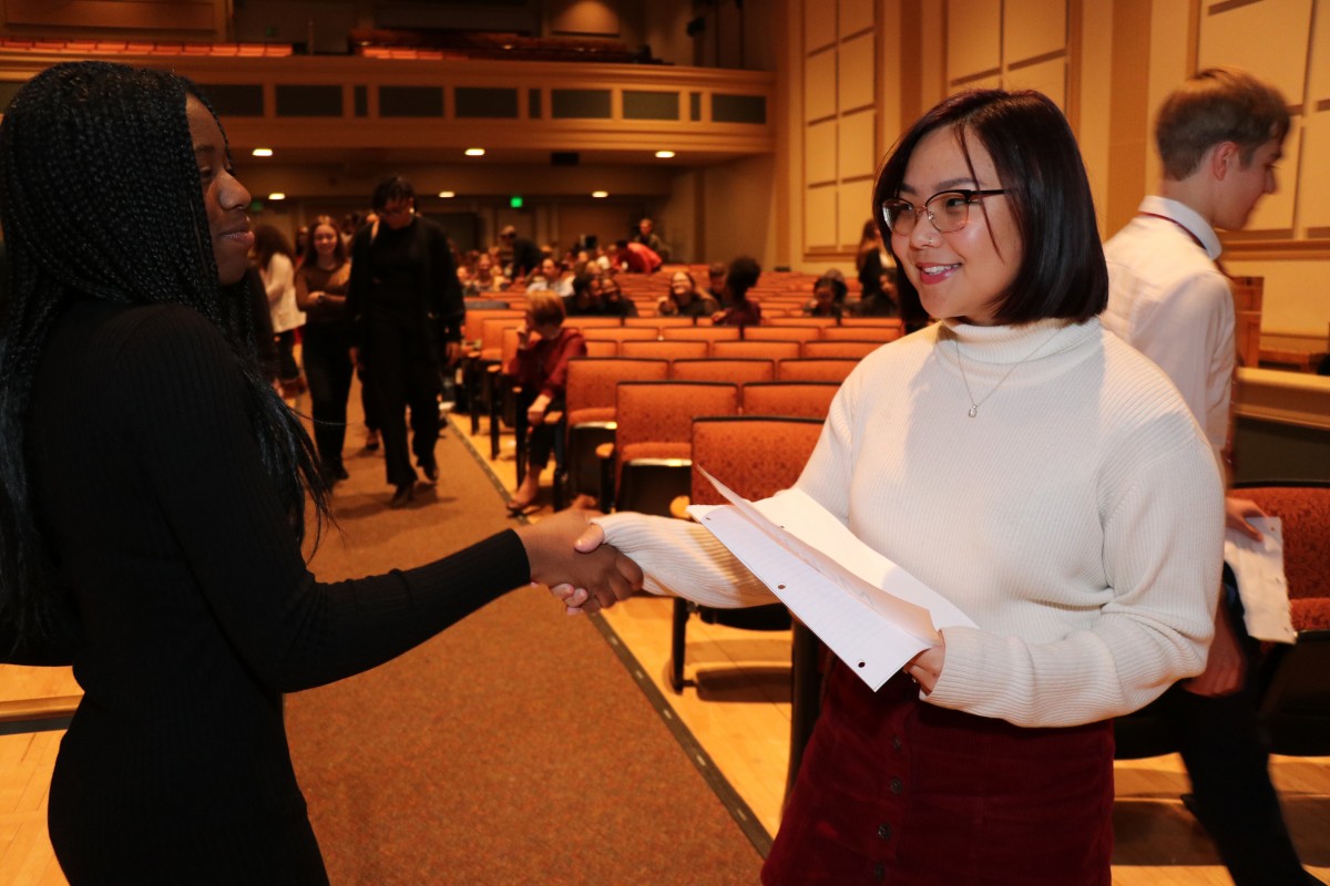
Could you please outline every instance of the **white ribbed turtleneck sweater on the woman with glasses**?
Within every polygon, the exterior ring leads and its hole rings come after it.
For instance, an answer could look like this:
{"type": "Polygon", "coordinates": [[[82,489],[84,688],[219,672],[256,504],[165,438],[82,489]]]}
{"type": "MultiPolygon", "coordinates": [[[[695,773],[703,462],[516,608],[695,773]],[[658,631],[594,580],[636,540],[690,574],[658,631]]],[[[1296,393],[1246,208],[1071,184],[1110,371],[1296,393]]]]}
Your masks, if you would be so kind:
{"type": "MultiPolygon", "coordinates": [[[[1099,320],[942,323],[879,348],[842,385],[798,486],[979,626],[944,631],[932,704],[1075,725],[1205,664],[1218,470],[1173,385],[1099,320]]],[[[653,592],[773,600],[696,523],[597,522],[653,592]]]]}

